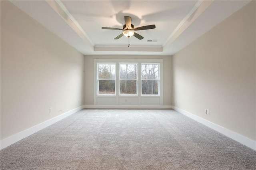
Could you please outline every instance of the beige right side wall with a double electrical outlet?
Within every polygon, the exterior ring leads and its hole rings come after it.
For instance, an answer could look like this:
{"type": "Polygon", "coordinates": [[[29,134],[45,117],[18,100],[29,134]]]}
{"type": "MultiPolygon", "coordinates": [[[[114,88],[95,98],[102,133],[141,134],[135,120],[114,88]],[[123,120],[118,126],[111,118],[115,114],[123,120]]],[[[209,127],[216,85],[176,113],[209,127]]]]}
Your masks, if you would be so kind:
{"type": "Polygon", "coordinates": [[[255,22],[254,1],[173,56],[173,105],[252,140],[255,22]]]}

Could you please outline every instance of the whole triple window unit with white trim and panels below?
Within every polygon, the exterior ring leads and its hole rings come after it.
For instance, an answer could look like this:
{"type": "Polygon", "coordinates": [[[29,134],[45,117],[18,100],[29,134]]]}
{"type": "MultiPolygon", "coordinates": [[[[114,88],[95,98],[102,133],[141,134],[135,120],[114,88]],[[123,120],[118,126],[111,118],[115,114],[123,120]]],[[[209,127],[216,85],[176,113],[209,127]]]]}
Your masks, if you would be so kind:
{"type": "Polygon", "coordinates": [[[94,59],[94,69],[94,103],[162,103],[163,59],[94,59]]]}

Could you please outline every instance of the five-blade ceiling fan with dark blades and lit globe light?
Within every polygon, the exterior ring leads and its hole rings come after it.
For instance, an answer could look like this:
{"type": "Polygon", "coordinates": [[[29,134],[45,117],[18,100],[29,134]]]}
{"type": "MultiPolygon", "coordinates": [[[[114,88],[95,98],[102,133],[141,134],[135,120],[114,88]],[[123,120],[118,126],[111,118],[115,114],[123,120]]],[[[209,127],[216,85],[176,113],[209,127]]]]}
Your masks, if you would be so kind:
{"type": "Polygon", "coordinates": [[[120,28],[109,28],[109,27],[102,27],[102,29],[107,29],[107,30],[122,30],[124,31],[122,34],[114,38],[114,40],[118,40],[122,36],[126,36],[130,38],[131,36],[134,36],[138,38],[139,40],[142,40],[144,37],[142,37],[140,34],[137,34],[134,31],[139,31],[139,30],[150,30],[156,28],[155,25],[149,25],[149,26],[142,26],[142,27],[137,27],[134,28],[134,25],[132,25],[132,18],[130,16],[124,16],[124,21],[125,24],[123,26],[123,29],[120,28]]]}

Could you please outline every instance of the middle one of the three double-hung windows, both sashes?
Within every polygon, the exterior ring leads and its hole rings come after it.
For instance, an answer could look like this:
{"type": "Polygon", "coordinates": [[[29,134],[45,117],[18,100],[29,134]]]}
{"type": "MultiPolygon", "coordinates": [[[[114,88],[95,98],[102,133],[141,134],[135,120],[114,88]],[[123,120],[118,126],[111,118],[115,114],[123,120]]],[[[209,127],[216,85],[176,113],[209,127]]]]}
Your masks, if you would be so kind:
{"type": "Polygon", "coordinates": [[[120,95],[137,95],[138,64],[120,63],[119,65],[119,89],[120,95]]]}

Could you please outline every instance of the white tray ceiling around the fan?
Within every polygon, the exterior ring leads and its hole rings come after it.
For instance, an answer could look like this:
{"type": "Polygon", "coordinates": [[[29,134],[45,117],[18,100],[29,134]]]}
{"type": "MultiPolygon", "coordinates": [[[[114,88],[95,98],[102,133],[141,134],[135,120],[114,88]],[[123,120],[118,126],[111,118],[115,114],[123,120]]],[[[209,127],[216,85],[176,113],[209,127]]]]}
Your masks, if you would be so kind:
{"type": "Polygon", "coordinates": [[[216,26],[250,1],[197,0],[56,0],[11,1],[43,26],[84,55],[173,55],[216,26]],[[123,36],[124,16],[135,27],[156,25],[136,31],[144,37],[123,36]],[[147,40],[158,40],[147,42],[147,40]]]}

